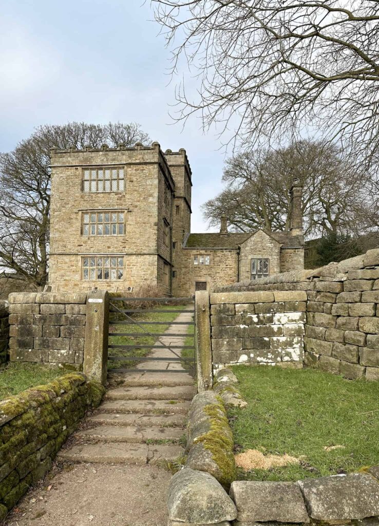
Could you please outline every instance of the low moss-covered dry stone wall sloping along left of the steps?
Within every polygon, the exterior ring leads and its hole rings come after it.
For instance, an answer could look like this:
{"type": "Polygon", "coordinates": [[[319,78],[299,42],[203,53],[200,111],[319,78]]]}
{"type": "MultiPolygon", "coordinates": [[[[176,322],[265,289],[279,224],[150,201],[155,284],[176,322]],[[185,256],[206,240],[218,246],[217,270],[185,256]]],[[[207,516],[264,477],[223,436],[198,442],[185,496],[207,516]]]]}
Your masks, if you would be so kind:
{"type": "Polygon", "coordinates": [[[104,388],[70,373],[0,402],[0,520],[52,467],[56,453],[104,388]]]}

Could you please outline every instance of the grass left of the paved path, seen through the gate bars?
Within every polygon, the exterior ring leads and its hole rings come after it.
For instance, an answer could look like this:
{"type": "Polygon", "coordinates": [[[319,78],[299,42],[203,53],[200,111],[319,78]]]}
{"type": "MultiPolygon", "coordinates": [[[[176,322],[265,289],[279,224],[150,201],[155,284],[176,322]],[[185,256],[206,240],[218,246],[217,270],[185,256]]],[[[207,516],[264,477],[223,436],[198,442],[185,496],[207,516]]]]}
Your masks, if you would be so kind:
{"type": "MultiPolygon", "coordinates": [[[[166,312],[146,312],[141,314],[132,315],[134,319],[138,321],[167,321],[167,325],[138,325],[128,324],[128,325],[112,325],[110,321],[110,331],[109,332],[135,332],[141,333],[141,336],[110,336],[109,343],[113,345],[152,345],[157,338],[151,337],[146,334],[146,331],[151,334],[163,333],[169,327],[170,322],[174,321],[178,312],[171,312],[172,310],[183,310],[183,306],[159,306],[157,309],[165,310],[166,312]]],[[[117,315],[118,319],[121,315],[117,315]]],[[[109,349],[109,355],[111,356],[138,356],[143,358],[151,352],[151,349],[109,349]]],[[[118,369],[118,368],[129,368],[133,369],[140,363],[140,360],[130,360],[130,361],[108,361],[108,369],[118,369]]]]}

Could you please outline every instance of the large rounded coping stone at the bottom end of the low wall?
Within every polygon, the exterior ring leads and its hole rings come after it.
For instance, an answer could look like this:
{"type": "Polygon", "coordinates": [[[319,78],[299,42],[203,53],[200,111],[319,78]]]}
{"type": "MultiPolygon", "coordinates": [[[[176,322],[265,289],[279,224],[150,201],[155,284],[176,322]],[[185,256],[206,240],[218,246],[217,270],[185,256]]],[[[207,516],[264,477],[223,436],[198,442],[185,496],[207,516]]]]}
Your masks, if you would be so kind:
{"type": "Polygon", "coordinates": [[[167,508],[172,521],[217,524],[237,518],[237,509],[209,473],[183,468],[171,478],[167,508]]]}

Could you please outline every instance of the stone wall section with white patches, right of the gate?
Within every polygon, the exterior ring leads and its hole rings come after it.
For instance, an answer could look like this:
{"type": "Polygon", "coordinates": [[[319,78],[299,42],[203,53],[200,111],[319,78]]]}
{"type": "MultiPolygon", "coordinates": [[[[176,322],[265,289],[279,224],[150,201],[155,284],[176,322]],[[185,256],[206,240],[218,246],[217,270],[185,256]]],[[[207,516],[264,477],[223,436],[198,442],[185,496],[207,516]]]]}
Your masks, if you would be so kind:
{"type": "Polygon", "coordinates": [[[213,368],[232,363],[302,367],[305,308],[304,291],[211,294],[213,368]]]}

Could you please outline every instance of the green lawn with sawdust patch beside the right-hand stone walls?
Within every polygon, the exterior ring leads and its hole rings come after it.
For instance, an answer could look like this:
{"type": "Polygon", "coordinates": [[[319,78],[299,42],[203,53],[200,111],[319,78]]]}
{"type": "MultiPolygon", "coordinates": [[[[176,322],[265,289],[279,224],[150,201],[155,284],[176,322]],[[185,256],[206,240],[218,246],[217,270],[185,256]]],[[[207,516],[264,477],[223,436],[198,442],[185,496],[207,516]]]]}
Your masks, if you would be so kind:
{"type": "Polygon", "coordinates": [[[301,458],[244,480],[298,480],[379,464],[379,382],[350,381],[321,371],[233,367],[245,409],[228,411],[236,451],[301,458]],[[325,446],[344,446],[325,451],[325,446]]]}

